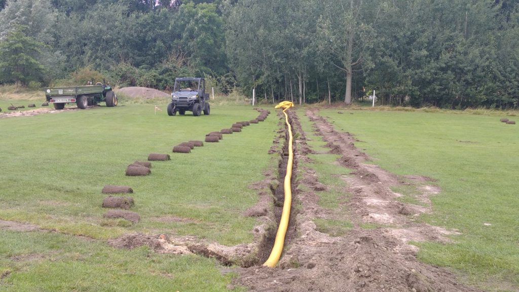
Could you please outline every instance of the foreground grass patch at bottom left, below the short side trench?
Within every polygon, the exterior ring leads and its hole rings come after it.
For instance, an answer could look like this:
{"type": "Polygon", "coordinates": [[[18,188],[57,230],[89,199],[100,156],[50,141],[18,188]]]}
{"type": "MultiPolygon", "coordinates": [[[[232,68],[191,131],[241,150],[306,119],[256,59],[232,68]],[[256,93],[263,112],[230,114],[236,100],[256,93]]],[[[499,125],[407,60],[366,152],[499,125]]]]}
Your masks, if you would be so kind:
{"type": "MultiPolygon", "coordinates": [[[[212,259],[114,249],[47,232],[0,230],[0,291],[227,291],[212,259]]],[[[237,290],[238,291],[238,290],[237,290]]]]}

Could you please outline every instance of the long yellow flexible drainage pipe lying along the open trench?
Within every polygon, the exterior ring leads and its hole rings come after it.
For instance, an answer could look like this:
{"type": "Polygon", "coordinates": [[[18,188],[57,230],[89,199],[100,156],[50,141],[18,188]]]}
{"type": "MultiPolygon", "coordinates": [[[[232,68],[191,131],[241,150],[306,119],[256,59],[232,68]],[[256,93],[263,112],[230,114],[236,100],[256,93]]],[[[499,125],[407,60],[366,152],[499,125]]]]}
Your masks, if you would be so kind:
{"type": "Polygon", "coordinates": [[[276,109],[283,108],[283,114],[285,115],[285,123],[289,129],[289,160],[286,163],[286,174],[284,180],[284,191],[285,191],[285,200],[283,203],[283,212],[281,213],[281,219],[279,221],[278,232],[276,233],[276,240],[274,242],[274,246],[272,247],[272,251],[270,251],[270,256],[267,261],[263,264],[263,266],[274,268],[281,257],[281,252],[283,251],[283,245],[285,243],[285,235],[286,229],[289,226],[290,219],[290,208],[292,205],[292,164],[294,162],[294,152],[292,151],[292,126],[289,123],[289,116],[286,114],[286,110],[293,107],[294,104],[290,101],[283,101],[276,105],[276,109]]]}

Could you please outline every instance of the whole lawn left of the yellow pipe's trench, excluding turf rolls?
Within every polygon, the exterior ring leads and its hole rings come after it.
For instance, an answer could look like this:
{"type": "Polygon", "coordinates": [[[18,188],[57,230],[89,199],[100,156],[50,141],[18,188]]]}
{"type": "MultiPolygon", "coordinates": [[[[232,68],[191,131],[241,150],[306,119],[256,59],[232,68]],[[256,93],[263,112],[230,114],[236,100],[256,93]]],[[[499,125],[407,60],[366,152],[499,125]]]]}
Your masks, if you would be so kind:
{"type": "Polygon", "coordinates": [[[212,260],[154,255],[145,247],[116,250],[72,236],[191,234],[225,245],[253,240],[256,221],[241,213],[257,202],[249,184],[277,165],[267,154],[277,118],[179,154],[171,152],[173,145],[204,140],[209,131],[258,113],[247,106],[213,106],[210,116],[170,117],[166,102],[157,105],[157,114],[153,104],[121,102],[116,108],[0,118],[0,219],[58,231],[0,230],[0,278],[8,275],[0,291],[225,290],[229,276],[212,260]],[[127,165],[149,153],[169,153],[172,160],[154,162],[149,176],[125,176],[127,165]],[[134,190],[139,223],[103,218],[106,184],[134,190]],[[165,217],[185,220],[160,220],[165,217]],[[199,281],[185,281],[194,277],[199,281]]]}

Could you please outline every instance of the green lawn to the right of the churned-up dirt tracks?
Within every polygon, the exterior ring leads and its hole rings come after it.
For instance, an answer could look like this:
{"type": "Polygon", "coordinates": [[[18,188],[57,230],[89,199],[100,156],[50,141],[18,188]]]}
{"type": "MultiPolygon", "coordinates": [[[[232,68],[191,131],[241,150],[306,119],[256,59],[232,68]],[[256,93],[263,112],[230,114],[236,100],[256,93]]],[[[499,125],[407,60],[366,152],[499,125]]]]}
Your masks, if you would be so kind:
{"type": "Polygon", "coordinates": [[[425,262],[459,269],[492,291],[519,290],[519,128],[499,115],[322,110],[356,146],[398,175],[438,181],[433,213],[421,219],[458,229],[454,243],[417,243],[425,262]],[[491,224],[491,225],[485,225],[491,224]]]}

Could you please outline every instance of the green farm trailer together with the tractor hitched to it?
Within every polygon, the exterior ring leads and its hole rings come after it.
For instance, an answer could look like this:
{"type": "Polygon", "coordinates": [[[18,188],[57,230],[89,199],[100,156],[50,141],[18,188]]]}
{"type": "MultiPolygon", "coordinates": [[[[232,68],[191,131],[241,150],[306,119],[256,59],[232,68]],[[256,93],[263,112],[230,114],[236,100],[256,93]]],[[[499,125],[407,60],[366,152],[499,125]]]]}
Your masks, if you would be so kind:
{"type": "Polygon", "coordinates": [[[54,109],[62,110],[65,104],[76,103],[79,109],[105,102],[106,107],[115,107],[117,97],[110,85],[98,82],[96,85],[75,87],[49,87],[45,89],[47,102],[54,104],[54,109]]]}

